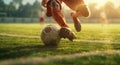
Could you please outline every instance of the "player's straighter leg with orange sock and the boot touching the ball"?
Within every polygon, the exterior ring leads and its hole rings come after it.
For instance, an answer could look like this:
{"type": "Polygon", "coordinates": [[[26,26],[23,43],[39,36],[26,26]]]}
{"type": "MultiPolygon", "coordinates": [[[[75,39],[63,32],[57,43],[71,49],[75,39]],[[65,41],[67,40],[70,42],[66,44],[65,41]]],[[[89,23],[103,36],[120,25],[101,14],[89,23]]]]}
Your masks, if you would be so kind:
{"type": "Polygon", "coordinates": [[[73,41],[75,39],[75,34],[69,29],[66,20],[61,13],[61,4],[53,1],[51,2],[51,11],[52,16],[55,19],[55,21],[61,26],[59,35],[61,38],[68,38],[69,40],[73,41]]]}

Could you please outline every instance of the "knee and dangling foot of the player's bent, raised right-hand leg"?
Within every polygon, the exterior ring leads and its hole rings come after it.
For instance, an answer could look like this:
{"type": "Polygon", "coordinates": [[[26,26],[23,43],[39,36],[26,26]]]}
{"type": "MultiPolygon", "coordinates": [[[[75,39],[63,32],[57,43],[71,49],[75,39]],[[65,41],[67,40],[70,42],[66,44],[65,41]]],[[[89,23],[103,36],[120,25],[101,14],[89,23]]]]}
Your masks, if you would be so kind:
{"type": "Polygon", "coordinates": [[[81,4],[77,8],[77,10],[74,13],[72,13],[72,17],[74,20],[74,26],[78,32],[81,31],[81,24],[80,24],[80,20],[78,19],[78,17],[88,17],[88,16],[89,16],[89,10],[87,6],[84,4],[81,4]]]}

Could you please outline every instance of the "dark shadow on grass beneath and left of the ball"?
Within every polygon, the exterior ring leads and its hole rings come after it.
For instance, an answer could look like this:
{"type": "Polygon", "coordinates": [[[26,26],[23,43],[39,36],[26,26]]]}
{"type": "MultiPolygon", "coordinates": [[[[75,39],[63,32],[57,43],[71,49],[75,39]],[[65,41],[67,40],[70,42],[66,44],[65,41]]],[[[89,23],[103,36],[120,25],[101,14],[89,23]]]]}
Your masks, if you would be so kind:
{"type": "MultiPolygon", "coordinates": [[[[16,46],[8,45],[7,47],[0,48],[0,60],[17,59],[20,57],[32,57],[34,54],[39,53],[40,56],[45,57],[52,51],[56,51],[57,46],[45,45],[31,45],[31,46],[16,46]]],[[[37,55],[38,56],[38,55],[37,55]]]]}

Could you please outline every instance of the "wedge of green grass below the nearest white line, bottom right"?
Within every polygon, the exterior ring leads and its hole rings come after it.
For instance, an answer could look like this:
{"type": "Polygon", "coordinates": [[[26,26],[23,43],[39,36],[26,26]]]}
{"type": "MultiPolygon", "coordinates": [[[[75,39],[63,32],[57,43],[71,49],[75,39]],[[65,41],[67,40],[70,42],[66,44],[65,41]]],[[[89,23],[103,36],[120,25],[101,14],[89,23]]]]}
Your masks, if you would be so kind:
{"type": "MultiPolygon", "coordinates": [[[[120,55],[95,55],[75,59],[54,60],[41,65],[119,65],[120,55]]],[[[40,63],[39,63],[40,64],[40,63]]]]}

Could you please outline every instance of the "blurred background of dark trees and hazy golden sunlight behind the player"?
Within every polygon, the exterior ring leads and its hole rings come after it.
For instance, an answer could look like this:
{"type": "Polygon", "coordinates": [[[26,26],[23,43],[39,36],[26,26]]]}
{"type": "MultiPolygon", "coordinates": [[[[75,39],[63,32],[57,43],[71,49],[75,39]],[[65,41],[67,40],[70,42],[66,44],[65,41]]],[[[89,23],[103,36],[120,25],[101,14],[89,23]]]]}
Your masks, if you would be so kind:
{"type": "MultiPolygon", "coordinates": [[[[46,9],[42,0],[0,0],[0,23],[38,23],[45,16],[46,9]],[[42,12],[42,13],[41,13],[42,12]]],[[[82,23],[120,23],[120,0],[85,0],[91,11],[88,18],[81,17],[82,23]]],[[[64,3],[62,5],[67,22],[71,22],[72,12],[64,3]]],[[[46,22],[54,22],[46,17],[46,22]]]]}

